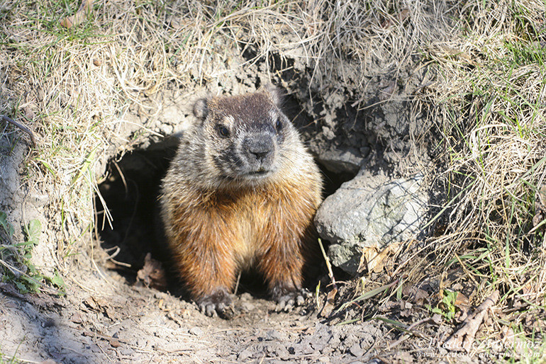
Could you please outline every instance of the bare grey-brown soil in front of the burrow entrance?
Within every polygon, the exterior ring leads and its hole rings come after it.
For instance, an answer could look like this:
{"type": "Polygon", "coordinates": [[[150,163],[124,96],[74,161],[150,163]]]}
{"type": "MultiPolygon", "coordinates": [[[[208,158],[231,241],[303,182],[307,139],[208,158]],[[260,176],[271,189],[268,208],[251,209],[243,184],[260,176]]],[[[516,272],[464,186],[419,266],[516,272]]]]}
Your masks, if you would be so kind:
{"type": "Polygon", "coordinates": [[[4,290],[0,329],[10,334],[2,350],[60,363],[342,363],[369,360],[377,354],[372,344],[386,339],[379,324],[329,326],[311,309],[277,313],[272,302],[248,293],[235,300],[240,314],[232,320],[206,317],[195,305],[126,285],[116,274],[81,273],[63,299],[19,299],[4,290]]]}

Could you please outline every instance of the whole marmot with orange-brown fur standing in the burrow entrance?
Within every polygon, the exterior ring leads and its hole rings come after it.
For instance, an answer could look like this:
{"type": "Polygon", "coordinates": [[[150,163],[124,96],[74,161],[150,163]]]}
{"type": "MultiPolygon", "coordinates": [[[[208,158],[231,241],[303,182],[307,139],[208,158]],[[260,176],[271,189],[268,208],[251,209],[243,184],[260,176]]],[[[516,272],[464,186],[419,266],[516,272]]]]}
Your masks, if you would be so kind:
{"type": "Polygon", "coordinates": [[[201,99],[162,181],[161,217],[174,268],[209,316],[230,306],[238,273],[253,268],[292,305],[305,266],[320,265],[313,217],[321,172],[268,86],[201,99]]]}

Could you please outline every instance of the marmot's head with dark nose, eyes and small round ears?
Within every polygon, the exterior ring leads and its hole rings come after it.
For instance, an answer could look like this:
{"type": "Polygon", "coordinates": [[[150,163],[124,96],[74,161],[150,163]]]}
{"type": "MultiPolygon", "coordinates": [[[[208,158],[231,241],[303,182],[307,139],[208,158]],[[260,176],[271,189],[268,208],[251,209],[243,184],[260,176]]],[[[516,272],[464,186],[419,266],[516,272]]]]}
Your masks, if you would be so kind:
{"type": "Polygon", "coordinates": [[[279,150],[294,128],[279,108],[278,91],[199,100],[194,114],[218,177],[254,184],[278,171],[279,150]]]}

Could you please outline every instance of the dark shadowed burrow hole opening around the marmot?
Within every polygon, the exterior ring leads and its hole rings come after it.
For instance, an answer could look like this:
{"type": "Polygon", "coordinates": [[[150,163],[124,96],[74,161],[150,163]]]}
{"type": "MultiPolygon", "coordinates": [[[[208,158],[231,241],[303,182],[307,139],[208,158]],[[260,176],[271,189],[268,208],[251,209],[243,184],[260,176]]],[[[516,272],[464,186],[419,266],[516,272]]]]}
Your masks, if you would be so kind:
{"type": "MultiPolygon", "coordinates": [[[[305,115],[294,113],[295,103],[291,98],[286,99],[286,113],[302,134],[309,137],[313,135],[310,126],[313,123],[305,115]]],[[[137,283],[138,271],[143,268],[145,256],[150,253],[165,269],[165,289],[184,297],[182,285],[169,264],[170,254],[162,234],[158,205],[160,183],[178,144],[177,136],[167,137],[160,142],[152,142],[145,149],[135,149],[108,162],[106,179],[99,184],[100,196],[95,195],[96,239],[111,256],[107,268],[122,275],[128,284],[137,283]],[[104,205],[108,207],[111,222],[108,222],[104,205]]],[[[353,174],[332,173],[320,164],[319,167],[325,182],[324,198],[354,177],[353,174]]],[[[243,274],[238,286],[238,292],[249,291],[257,297],[265,294],[263,280],[252,273],[243,274]]]]}

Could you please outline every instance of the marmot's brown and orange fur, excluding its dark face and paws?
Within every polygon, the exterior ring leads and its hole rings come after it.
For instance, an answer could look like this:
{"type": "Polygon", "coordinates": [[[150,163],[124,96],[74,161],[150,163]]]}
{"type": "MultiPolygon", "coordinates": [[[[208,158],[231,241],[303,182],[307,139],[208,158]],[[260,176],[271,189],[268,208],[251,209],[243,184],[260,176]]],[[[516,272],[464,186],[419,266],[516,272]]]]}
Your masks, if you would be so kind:
{"type": "Polygon", "coordinates": [[[235,123],[233,132],[248,120],[268,123],[276,96],[262,91],[208,101],[206,120],[216,121],[196,125],[184,138],[163,182],[162,218],[174,266],[198,302],[218,290],[230,292],[244,268],[262,273],[278,298],[301,289],[304,266],[318,264],[313,215],[321,203],[321,174],[294,127],[288,122],[277,133],[277,164],[259,181],[221,178],[211,158],[216,152],[206,145],[218,120],[235,123]]]}

